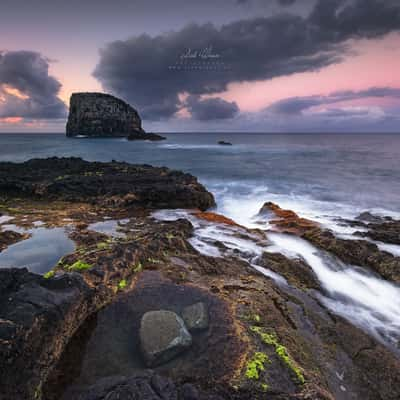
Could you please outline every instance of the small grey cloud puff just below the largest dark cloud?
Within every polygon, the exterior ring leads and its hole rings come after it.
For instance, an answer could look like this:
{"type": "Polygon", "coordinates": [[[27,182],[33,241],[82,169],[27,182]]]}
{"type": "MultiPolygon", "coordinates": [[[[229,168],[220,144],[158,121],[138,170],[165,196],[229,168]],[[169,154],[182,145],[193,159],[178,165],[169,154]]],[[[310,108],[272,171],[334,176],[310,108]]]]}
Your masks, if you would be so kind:
{"type": "Polygon", "coordinates": [[[239,112],[239,107],[235,102],[228,102],[221,98],[200,99],[195,95],[187,98],[186,107],[192,117],[199,121],[229,119],[239,112]]]}

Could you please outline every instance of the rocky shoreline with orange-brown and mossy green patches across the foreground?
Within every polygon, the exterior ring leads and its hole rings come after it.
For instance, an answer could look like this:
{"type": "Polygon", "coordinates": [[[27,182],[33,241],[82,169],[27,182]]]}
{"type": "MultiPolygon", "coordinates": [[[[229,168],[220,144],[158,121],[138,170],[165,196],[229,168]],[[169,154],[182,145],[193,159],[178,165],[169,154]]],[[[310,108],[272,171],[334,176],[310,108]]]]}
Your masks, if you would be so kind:
{"type": "MultiPolygon", "coordinates": [[[[194,221],[254,243],[269,233],[205,212],[215,200],[195,177],[51,158],[0,163],[0,193],[13,224],[66,227],[76,244],[45,275],[0,268],[1,400],[400,397],[399,353],[327,309],[305,260],[262,253],[280,285],[218,240],[222,256],[198,251],[194,221]],[[190,218],[155,218],[162,209],[190,218]],[[93,229],[110,220],[118,235],[93,229]]],[[[261,211],[274,231],[399,283],[400,259],[374,243],[272,203],[261,211]]],[[[398,221],[353,222],[367,238],[399,237],[398,221]]],[[[26,239],[0,225],[0,252],[26,239]]]]}

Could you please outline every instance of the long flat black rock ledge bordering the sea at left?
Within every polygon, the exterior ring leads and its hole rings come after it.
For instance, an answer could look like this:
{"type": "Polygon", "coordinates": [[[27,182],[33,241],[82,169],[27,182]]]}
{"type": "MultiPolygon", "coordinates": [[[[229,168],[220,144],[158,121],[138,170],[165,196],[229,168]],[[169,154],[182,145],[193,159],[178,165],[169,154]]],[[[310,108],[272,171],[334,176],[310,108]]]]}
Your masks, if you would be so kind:
{"type": "Polygon", "coordinates": [[[215,205],[197,179],[168,168],[80,158],[0,163],[0,192],[8,198],[95,202],[114,207],[199,208],[215,205]]]}

